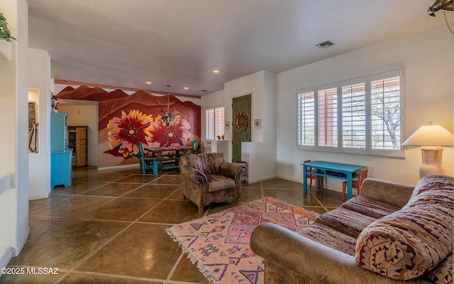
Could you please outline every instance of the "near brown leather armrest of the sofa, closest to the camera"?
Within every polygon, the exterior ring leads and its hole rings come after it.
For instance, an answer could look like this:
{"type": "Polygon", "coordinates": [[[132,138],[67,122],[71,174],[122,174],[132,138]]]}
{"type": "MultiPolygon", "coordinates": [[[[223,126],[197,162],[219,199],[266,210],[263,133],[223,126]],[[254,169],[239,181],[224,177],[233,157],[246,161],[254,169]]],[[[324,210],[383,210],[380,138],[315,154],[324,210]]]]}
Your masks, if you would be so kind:
{"type": "MultiPolygon", "coordinates": [[[[354,256],[331,249],[276,224],[262,223],[257,226],[250,238],[250,248],[267,261],[304,275],[314,283],[345,283],[348,278],[349,284],[402,284],[402,281],[361,268],[356,264],[354,256]]],[[[427,282],[415,279],[408,283],[427,282]]]]}

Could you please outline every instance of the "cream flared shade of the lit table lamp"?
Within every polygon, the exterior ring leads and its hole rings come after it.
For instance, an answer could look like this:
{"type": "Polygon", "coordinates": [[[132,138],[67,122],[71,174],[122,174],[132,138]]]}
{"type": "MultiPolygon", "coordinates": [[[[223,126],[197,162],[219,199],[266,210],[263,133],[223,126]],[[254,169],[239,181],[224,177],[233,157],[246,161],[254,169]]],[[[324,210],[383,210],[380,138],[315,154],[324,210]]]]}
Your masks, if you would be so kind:
{"type": "Polygon", "coordinates": [[[406,139],[404,146],[453,146],[454,134],[441,125],[424,125],[406,139]]]}

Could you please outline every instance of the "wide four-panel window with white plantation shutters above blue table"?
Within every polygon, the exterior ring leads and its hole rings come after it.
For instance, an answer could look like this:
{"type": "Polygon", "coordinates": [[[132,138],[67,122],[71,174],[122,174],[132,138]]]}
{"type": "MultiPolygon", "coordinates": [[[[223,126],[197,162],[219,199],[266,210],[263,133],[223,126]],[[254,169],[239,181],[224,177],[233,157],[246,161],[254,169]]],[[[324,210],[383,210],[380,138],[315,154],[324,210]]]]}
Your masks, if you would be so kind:
{"type": "Polygon", "coordinates": [[[403,157],[404,70],[300,89],[298,148],[403,157]]]}

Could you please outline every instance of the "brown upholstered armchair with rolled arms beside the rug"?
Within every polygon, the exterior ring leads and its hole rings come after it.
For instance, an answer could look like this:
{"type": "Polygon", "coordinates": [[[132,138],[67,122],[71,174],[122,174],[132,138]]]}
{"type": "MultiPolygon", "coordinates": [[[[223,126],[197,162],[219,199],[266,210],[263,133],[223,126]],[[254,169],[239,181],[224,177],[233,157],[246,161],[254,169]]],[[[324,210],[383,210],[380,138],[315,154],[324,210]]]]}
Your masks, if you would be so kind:
{"type": "Polygon", "coordinates": [[[201,153],[182,156],[179,171],[184,197],[194,202],[202,213],[211,202],[223,202],[230,197],[238,202],[241,180],[248,168],[226,162],[223,153],[201,153]]]}

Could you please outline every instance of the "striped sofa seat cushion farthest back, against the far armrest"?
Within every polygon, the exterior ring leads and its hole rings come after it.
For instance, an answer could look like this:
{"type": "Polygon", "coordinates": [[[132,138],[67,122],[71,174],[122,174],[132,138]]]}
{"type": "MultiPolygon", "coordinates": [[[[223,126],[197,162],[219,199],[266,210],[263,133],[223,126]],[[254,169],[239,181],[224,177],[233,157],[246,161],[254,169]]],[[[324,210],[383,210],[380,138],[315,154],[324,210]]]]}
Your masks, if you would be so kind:
{"type": "Polygon", "coordinates": [[[353,197],[343,203],[341,207],[377,219],[387,216],[400,209],[394,205],[380,202],[364,195],[353,197]]]}

